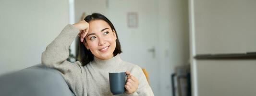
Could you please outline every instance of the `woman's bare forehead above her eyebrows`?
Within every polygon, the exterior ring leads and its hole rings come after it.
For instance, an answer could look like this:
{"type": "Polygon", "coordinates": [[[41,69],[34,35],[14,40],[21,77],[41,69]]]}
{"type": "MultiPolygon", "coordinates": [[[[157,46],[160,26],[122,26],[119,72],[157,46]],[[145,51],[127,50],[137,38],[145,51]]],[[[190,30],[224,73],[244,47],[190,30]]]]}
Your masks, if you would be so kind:
{"type": "Polygon", "coordinates": [[[101,32],[102,29],[110,28],[110,25],[104,20],[92,20],[89,22],[89,33],[90,32],[101,32]]]}

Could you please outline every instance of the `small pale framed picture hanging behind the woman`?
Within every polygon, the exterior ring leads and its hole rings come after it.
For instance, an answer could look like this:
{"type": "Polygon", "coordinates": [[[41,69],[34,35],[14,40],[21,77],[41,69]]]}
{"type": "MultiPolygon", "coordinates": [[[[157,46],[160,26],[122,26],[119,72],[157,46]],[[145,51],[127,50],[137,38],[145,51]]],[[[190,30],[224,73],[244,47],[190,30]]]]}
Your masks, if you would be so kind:
{"type": "Polygon", "coordinates": [[[127,13],[127,26],[129,28],[138,27],[138,13],[137,12],[128,12],[127,13]]]}

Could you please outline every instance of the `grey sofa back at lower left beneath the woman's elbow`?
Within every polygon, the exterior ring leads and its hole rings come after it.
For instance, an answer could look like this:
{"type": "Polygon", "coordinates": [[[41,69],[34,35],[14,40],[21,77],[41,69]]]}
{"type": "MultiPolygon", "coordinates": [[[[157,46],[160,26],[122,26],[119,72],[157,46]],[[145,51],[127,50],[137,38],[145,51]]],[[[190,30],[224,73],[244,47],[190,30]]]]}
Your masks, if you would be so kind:
{"type": "Polygon", "coordinates": [[[37,64],[0,75],[0,96],[74,96],[60,72],[37,64]]]}

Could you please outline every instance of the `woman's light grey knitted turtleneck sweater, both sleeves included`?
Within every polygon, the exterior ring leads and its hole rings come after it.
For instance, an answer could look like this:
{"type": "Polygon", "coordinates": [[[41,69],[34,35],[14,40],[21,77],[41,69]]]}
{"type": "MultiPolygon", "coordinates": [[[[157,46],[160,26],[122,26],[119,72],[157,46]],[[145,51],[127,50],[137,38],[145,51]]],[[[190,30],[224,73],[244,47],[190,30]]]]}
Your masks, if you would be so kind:
{"type": "Polygon", "coordinates": [[[75,96],[113,96],[110,92],[109,72],[130,71],[139,80],[139,87],[133,94],[121,96],[154,96],[141,68],[125,62],[120,55],[109,60],[94,60],[82,66],[81,62],[71,63],[69,46],[79,30],[68,24],[42,53],[42,64],[55,68],[69,85],[75,96]]]}

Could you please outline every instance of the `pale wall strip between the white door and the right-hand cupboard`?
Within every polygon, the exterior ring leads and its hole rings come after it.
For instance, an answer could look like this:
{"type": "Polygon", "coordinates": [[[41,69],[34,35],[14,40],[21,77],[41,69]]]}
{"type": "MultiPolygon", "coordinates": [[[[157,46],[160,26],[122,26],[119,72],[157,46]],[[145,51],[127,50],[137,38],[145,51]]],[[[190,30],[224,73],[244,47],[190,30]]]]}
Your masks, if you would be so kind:
{"type": "Polygon", "coordinates": [[[158,0],[160,89],[171,96],[171,73],[189,61],[188,0],[158,0]]]}

